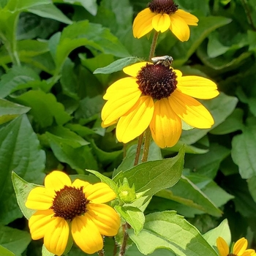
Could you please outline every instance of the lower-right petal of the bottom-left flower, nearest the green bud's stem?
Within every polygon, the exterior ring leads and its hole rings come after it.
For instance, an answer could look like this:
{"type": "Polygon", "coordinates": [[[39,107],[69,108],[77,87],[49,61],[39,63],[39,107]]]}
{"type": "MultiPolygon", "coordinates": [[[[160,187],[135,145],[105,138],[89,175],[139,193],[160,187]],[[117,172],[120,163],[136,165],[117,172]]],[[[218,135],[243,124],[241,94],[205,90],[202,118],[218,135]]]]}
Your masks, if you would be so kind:
{"type": "Polygon", "coordinates": [[[120,217],[110,206],[104,204],[89,203],[88,214],[104,236],[116,236],[120,227],[120,217]]]}

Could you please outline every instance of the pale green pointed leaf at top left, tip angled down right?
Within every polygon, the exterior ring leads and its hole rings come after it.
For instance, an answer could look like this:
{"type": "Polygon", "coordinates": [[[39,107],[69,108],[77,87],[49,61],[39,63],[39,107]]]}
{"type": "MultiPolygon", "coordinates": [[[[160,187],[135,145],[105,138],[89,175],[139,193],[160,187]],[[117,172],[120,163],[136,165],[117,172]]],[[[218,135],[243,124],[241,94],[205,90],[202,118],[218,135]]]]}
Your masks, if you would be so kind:
{"type": "Polygon", "coordinates": [[[69,20],[54,4],[41,4],[34,7],[29,7],[28,11],[39,15],[43,18],[50,18],[58,20],[62,23],[72,24],[72,20],[69,20]]]}

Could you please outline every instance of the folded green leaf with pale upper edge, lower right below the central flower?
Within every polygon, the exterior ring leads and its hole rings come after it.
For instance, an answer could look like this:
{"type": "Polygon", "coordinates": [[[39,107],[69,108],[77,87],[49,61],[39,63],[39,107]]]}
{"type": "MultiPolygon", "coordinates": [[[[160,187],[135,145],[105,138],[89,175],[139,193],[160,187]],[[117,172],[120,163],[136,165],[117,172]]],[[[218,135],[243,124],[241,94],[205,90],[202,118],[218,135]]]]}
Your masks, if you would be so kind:
{"type": "Polygon", "coordinates": [[[215,217],[222,215],[222,211],[214,205],[210,198],[185,176],[182,176],[175,186],[158,192],[157,196],[174,200],[215,217]]]}

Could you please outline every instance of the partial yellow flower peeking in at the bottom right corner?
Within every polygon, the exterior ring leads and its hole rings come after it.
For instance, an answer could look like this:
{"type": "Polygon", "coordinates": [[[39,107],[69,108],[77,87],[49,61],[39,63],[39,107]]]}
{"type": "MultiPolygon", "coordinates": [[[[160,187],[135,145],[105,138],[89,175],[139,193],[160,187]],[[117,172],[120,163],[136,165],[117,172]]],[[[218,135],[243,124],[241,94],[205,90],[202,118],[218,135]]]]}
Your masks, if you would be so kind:
{"type": "Polygon", "coordinates": [[[233,252],[230,252],[226,241],[222,237],[217,238],[217,248],[220,256],[256,256],[255,250],[246,249],[247,246],[248,241],[246,238],[241,238],[234,244],[233,252]]]}

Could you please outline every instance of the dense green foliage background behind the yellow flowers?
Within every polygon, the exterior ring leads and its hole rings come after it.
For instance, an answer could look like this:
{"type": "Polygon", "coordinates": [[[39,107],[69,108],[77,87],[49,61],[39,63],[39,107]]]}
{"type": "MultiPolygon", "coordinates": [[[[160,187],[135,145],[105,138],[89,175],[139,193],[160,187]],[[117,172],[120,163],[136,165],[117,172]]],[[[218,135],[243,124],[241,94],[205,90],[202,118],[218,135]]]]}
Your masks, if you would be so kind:
{"type": "MultiPolygon", "coordinates": [[[[173,157],[182,144],[186,156],[181,179],[171,188],[156,183],[145,213],[150,221],[157,211],[176,210],[202,233],[227,218],[232,240],[246,236],[253,248],[256,1],[244,2],[177,0],[199,18],[198,26],[190,27],[188,42],[178,42],[170,31],[159,36],[156,56],[173,56],[173,67],[184,75],[211,78],[221,94],[202,101],[214,127],[184,131],[173,148],[151,144],[149,160],[173,157]]],[[[117,182],[120,171],[132,167],[135,142],[124,147],[115,132],[102,129],[100,111],[105,90],[124,77],[121,65],[148,58],[152,35],[132,36],[132,21],[147,3],[0,0],[0,255],[42,255],[42,241],[31,241],[18,206],[12,170],[42,184],[51,170],[86,174],[91,182],[97,179],[85,169],[97,170],[107,177],[118,174],[117,182]],[[115,67],[99,69],[118,59],[115,67]]],[[[134,173],[130,182],[136,182],[134,173]]],[[[106,238],[107,256],[112,247],[106,238]]],[[[68,255],[80,253],[73,247],[68,255]]],[[[127,255],[141,253],[133,244],[127,255]]]]}

